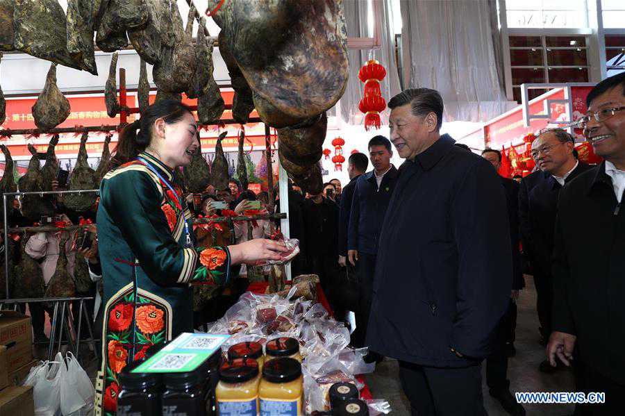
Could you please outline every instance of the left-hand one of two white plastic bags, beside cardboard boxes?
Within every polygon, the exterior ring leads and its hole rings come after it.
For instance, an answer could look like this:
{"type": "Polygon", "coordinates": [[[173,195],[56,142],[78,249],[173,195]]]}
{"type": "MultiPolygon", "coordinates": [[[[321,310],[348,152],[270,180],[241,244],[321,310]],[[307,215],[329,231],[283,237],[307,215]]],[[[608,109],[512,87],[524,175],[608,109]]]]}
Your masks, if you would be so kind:
{"type": "Polygon", "coordinates": [[[60,381],[65,372],[63,356],[57,353],[55,361],[44,361],[28,373],[24,385],[33,386],[35,416],[60,415],[60,381]]]}

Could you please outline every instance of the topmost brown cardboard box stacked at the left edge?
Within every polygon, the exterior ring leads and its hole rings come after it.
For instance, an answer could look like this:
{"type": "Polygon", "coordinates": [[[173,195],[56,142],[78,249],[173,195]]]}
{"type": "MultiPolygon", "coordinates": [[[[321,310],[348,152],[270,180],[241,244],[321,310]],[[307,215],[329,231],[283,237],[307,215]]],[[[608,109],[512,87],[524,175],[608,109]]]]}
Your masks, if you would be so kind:
{"type": "Polygon", "coordinates": [[[0,311],[0,345],[7,348],[9,373],[33,360],[33,325],[31,317],[12,310],[0,311]]]}

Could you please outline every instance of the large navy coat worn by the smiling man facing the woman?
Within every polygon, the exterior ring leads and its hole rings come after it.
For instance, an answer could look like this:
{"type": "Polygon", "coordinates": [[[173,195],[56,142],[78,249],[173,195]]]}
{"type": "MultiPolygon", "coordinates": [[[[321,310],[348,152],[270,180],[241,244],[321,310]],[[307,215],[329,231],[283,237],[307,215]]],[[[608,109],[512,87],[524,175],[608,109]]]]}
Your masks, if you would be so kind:
{"type": "Polygon", "coordinates": [[[442,135],[399,168],[367,329],[373,351],[431,367],[488,356],[512,286],[501,181],[487,160],[453,143],[442,135]]]}

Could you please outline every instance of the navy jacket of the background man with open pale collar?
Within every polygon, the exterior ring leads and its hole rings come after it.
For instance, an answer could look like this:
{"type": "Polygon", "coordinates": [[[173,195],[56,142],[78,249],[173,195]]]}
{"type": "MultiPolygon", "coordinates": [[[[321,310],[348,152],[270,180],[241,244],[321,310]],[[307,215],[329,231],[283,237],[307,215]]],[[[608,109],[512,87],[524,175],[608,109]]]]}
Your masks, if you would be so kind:
{"type": "Polygon", "coordinates": [[[378,238],[395,181],[397,168],[394,166],[382,178],[379,190],[374,170],[358,178],[349,215],[348,250],[372,255],[378,252],[378,238]]]}

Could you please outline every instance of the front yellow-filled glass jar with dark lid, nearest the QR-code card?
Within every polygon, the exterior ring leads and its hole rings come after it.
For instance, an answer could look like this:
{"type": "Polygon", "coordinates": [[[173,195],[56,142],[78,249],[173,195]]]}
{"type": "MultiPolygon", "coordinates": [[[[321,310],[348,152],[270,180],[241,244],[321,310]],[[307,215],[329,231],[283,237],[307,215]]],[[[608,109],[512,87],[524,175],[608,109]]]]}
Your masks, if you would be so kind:
{"type": "Polygon", "coordinates": [[[220,416],[256,416],[258,414],[258,363],[251,358],[226,361],[219,369],[215,389],[220,416]]]}

